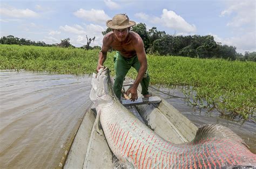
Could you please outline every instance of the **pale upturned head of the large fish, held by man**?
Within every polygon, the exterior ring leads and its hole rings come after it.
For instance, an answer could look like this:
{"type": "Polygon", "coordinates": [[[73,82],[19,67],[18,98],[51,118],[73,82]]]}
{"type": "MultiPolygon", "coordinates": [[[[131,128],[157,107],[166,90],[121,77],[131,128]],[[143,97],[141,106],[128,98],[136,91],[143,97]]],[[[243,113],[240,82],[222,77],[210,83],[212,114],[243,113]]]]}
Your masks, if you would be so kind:
{"type": "Polygon", "coordinates": [[[104,107],[113,103],[115,95],[113,93],[109,68],[100,68],[97,75],[93,73],[91,84],[90,98],[93,103],[104,107]]]}

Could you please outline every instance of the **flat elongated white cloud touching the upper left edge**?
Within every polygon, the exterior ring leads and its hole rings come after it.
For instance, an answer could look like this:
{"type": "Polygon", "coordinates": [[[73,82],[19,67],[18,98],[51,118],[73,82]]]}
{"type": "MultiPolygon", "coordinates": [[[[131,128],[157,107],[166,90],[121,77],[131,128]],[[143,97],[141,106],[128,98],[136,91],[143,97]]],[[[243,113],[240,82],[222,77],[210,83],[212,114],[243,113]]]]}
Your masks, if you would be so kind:
{"type": "Polygon", "coordinates": [[[38,13],[30,9],[15,9],[15,8],[1,8],[1,15],[14,18],[29,18],[29,17],[38,17],[38,13]]]}

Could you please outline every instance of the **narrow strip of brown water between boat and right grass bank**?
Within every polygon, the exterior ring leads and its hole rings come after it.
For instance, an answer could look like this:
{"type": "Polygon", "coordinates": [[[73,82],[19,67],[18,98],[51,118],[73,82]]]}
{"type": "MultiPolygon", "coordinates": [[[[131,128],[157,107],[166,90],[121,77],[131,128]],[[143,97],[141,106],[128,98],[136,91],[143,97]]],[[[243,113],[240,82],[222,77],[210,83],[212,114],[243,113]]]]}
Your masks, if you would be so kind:
{"type": "Polygon", "coordinates": [[[250,146],[250,150],[256,154],[256,123],[252,121],[244,121],[242,119],[226,119],[221,117],[217,110],[208,111],[207,109],[199,109],[188,104],[181,88],[167,88],[152,86],[150,89],[164,98],[167,102],[178,109],[196,126],[204,124],[221,124],[227,126],[237,133],[245,143],[250,146]]]}

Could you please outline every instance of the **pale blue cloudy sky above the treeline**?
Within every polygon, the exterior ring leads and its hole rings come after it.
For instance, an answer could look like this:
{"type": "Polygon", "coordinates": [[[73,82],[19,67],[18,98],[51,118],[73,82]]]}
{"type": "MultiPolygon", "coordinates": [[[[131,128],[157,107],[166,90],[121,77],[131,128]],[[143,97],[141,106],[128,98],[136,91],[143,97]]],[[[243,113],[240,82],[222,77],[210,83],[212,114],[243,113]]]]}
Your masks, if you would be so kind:
{"type": "Polygon", "coordinates": [[[70,38],[76,47],[102,46],[106,21],[118,13],[171,35],[214,37],[237,52],[256,51],[254,0],[1,0],[0,36],[13,35],[46,44],[70,38]]]}

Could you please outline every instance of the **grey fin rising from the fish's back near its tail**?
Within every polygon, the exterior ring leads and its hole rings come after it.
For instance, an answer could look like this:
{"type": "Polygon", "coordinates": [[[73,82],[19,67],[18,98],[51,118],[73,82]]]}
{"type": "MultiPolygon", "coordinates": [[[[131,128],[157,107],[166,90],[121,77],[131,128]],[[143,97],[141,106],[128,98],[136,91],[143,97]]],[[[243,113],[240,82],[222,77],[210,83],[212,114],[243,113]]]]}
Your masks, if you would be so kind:
{"type": "Polygon", "coordinates": [[[245,144],[244,140],[239,137],[232,130],[227,128],[226,126],[219,124],[206,124],[200,126],[197,131],[196,137],[193,139],[193,142],[199,142],[202,139],[208,138],[217,138],[217,139],[231,139],[232,141],[237,141],[241,144],[245,144]]]}

